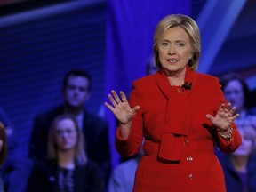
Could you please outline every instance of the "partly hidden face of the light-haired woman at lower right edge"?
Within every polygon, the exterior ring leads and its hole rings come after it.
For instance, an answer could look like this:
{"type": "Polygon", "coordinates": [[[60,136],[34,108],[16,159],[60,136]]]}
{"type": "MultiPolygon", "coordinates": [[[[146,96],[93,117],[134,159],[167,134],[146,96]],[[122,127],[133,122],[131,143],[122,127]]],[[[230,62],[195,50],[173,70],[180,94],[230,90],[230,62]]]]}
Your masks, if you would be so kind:
{"type": "MultiPolygon", "coordinates": [[[[246,127],[244,127],[246,129],[246,127]]],[[[239,130],[242,137],[242,144],[233,153],[233,156],[250,156],[252,154],[252,138],[248,137],[243,129],[239,130]]]]}

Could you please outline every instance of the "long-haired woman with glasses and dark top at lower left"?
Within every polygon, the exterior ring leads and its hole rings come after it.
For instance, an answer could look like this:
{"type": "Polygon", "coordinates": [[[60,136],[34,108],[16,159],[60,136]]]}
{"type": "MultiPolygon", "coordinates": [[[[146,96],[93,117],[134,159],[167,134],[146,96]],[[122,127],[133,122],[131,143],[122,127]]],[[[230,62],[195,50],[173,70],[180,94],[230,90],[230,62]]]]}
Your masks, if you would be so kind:
{"type": "Polygon", "coordinates": [[[49,131],[48,161],[37,160],[28,192],[100,192],[100,167],[86,156],[84,136],[71,115],[57,116],[49,131]]]}

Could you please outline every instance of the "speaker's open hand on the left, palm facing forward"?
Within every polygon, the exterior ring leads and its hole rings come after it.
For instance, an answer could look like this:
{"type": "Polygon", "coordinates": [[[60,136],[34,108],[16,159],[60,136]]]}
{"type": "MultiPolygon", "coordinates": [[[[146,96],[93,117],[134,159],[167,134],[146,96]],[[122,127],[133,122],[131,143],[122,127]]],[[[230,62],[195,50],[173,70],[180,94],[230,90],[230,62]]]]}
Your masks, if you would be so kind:
{"type": "Polygon", "coordinates": [[[136,112],[140,109],[140,106],[131,108],[129,102],[126,99],[124,92],[120,92],[121,99],[116,94],[116,91],[112,90],[112,94],[108,94],[108,99],[112,105],[105,102],[105,106],[109,108],[121,124],[131,123],[132,117],[136,115],[136,112]]]}

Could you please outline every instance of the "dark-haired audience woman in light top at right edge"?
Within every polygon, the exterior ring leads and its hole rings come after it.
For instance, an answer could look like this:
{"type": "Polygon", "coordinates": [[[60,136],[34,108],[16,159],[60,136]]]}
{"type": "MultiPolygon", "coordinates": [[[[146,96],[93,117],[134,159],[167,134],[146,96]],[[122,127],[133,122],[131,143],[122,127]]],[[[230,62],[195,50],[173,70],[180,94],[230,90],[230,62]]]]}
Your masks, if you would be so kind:
{"type": "Polygon", "coordinates": [[[235,120],[237,127],[252,126],[256,131],[256,116],[250,111],[249,88],[244,79],[236,73],[229,73],[220,78],[222,91],[226,100],[236,106],[236,113],[239,113],[235,120]]]}

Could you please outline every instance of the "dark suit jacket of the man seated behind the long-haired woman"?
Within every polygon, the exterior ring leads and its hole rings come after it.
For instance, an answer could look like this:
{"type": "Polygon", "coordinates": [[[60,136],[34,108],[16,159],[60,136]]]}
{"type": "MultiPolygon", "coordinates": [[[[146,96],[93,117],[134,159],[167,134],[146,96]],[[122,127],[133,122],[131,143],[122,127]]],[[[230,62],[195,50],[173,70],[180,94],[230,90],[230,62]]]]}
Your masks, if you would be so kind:
{"type": "MultiPolygon", "coordinates": [[[[63,106],[52,108],[35,117],[29,144],[29,156],[32,159],[45,159],[47,137],[51,122],[54,117],[61,114],[64,114],[63,106]]],[[[104,171],[101,173],[104,174],[107,180],[111,172],[107,122],[84,109],[83,133],[87,156],[99,164],[100,168],[104,171]]]]}

